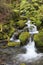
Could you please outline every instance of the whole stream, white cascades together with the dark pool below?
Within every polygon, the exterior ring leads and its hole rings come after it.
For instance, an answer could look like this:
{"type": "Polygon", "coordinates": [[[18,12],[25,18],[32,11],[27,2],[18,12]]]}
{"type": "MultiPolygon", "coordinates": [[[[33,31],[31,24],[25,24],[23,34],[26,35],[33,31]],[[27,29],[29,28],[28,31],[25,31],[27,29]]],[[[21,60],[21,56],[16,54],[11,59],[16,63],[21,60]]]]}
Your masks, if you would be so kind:
{"type": "MultiPolygon", "coordinates": [[[[0,48],[0,65],[43,65],[43,53],[37,52],[38,50],[33,39],[33,35],[39,32],[37,27],[30,22],[28,20],[26,23],[31,35],[27,45],[22,47],[7,47],[5,49],[0,48]]],[[[20,42],[20,40],[13,40],[13,37],[10,40],[20,42]]]]}

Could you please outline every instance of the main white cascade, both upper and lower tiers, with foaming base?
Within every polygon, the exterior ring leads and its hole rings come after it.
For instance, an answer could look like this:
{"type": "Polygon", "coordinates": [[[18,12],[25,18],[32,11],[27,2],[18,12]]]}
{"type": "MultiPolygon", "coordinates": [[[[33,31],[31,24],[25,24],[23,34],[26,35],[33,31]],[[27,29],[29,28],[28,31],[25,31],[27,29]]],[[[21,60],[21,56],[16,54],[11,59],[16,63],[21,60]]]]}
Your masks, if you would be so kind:
{"type": "MultiPolygon", "coordinates": [[[[37,27],[34,24],[31,24],[30,22],[31,21],[28,20],[28,22],[26,23],[27,26],[28,26],[28,29],[29,29],[29,33],[31,35],[38,33],[37,27]]],[[[35,48],[35,42],[34,42],[34,40],[32,41],[31,36],[30,36],[29,42],[25,46],[25,48],[26,48],[25,54],[18,54],[17,57],[19,58],[19,60],[27,61],[27,60],[30,60],[30,59],[41,57],[41,54],[38,54],[36,52],[37,49],[35,48]]]]}

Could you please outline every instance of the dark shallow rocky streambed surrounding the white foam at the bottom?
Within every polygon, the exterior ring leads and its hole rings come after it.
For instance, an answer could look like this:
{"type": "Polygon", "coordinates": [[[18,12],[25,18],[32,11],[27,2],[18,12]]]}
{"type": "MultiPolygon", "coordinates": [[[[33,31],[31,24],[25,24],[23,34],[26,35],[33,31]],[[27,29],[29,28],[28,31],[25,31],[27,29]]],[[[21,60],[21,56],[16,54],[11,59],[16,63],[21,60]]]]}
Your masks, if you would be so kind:
{"type": "Polygon", "coordinates": [[[0,65],[43,65],[43,56],[33,62],[18,61],[16,59],[17,54],[25,52],[26,49],[22,47],[0,48],[0,65]]]}

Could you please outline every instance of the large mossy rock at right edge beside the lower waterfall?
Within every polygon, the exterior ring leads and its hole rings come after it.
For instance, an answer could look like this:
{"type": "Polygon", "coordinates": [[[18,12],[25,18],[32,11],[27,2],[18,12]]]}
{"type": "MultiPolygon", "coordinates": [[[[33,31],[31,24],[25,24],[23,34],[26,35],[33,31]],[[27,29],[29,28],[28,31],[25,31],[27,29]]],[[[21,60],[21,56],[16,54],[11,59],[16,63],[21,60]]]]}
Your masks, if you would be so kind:
{"type": "Polygon", "coordinates": [[[39,34],[34,35],[34,40],[37,47],[43,47],[43,31],[40,31],[39,34]]]}

